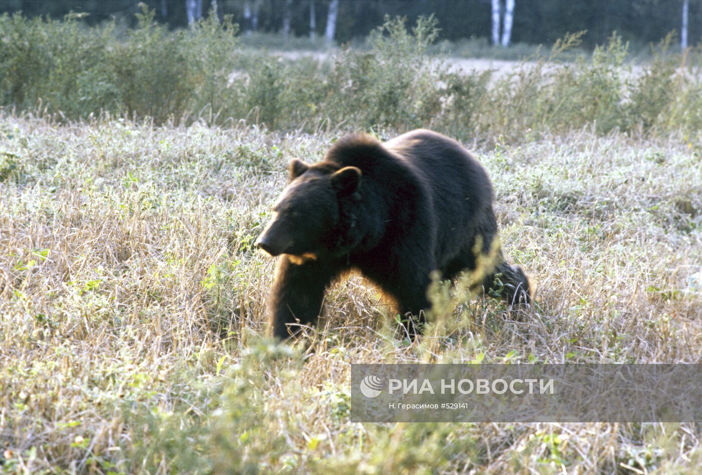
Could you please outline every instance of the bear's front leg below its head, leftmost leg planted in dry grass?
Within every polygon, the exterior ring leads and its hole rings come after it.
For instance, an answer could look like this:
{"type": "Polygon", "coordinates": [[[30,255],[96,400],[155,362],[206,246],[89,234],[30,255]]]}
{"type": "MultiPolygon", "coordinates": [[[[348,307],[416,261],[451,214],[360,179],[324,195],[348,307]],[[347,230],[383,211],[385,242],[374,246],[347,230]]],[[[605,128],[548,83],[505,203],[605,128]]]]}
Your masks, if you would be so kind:
{"type": "Polygon", "coordinates": [[[279,257],[275,282],[268,302],[270,329],[284,340],[296,333],[289,324],[311,324],[322,312],[324,291],[343,270],[329,261],[284,254],[279,257]],[[293,262],[296,261],[296,262],[293,262]]]}

